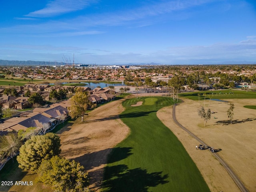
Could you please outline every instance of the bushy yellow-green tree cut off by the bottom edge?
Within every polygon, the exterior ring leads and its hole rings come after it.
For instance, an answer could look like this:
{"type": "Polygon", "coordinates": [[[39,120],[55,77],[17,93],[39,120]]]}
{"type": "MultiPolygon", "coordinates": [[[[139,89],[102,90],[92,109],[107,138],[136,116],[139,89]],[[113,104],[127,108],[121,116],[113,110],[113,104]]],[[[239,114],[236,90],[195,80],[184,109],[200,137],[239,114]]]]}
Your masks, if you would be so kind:
{"type": "Polygon", "coordinates": [[[38,175],[38,182],[58,192],[89,192],[88,173],[74,160],[58,156],[44,160],[38,169],[38,175]]]}

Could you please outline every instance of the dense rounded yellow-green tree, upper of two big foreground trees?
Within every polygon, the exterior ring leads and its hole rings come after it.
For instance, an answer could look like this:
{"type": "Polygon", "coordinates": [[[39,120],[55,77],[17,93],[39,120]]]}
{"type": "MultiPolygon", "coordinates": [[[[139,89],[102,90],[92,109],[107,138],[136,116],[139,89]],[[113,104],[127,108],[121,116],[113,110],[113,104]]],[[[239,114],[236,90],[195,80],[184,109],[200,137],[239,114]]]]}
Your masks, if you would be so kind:
{"type": "Polygon", "coordinates": [[[54,133],[32,136],[20,148],[19,168],[37,172],[43,160],[60,154],[60,138],[54,133]]]}

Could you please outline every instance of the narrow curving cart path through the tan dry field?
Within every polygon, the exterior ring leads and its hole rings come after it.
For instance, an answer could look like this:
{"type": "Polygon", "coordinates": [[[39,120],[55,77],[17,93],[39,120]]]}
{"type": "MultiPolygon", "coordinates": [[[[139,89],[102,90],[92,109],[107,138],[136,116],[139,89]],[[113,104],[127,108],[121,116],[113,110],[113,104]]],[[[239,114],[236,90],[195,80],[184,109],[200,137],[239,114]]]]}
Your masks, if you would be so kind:
{"type": "MultiPolygon", "coordinates": [[[[192,132],[190,132],[189,130],[187,130],[184,126],[182,126],[175,117],[175,107],[176,105],[173,106],[172,108],[172,118],[174,120],[174,122],[180,126],[183,130],[185,130],[186,132],[188,132],[188,134],[190,134],[192,137],[194,137],[198,142],[202,143],[204,146],[209,146],[208,144],[206,144],[204,141],[202,141],[200,138],[198,138],[196,135],[194,135],[192,132]]],[[[219,162],[224,166],[224,168],[227,170],[228,174],[230,174],[231,178],[234,180],[234,182],[236,183],[236,185],[238,186],[238,188],[241,190],[241,192],[248,192],[248,190],[245,188],[244,184],[242,183],[242,181],[238,178],[238,176],[233,172],[233,170],[228,166],[228,164],[226,164],[226,162],[217,154],[217,153],[212,153],[213,156],[216,157],[216,159],[219,160],[219,162]]]]}

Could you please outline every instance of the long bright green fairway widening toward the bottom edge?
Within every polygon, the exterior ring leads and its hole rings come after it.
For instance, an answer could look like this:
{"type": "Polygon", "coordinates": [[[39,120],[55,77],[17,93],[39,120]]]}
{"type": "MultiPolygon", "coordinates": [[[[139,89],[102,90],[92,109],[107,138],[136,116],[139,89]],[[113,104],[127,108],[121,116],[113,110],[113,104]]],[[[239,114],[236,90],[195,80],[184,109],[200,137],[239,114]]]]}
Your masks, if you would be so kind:
{"type": "Polygon", "coordinates": [[[210,191],[180,141],[156,116],[172,104],[166,97],[123,102],[126,110],[120,118],[131,131],[108,157],[102,191],[210,191]],[[130,106],[138,101],[142,106],[130,106]]]}

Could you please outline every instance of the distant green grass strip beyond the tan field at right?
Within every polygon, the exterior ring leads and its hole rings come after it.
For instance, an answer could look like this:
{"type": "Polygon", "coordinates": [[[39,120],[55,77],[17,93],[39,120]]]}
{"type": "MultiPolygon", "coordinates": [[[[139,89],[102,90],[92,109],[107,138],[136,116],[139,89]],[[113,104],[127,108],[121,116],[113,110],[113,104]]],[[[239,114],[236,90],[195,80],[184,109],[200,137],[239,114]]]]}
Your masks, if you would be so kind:
{"type": "Polygon", "coordinates": [[[206,99],[255,99],[256,92],[252,91],[240,91],[240,90],[216,90],[216,91],[196,91],[180,93],[180,97],[185,97],[192,100],[198,100],[198,94],[200,94],[200,100],[204,99],[204,93],[206,93],[206,99]]]}

